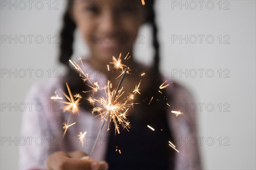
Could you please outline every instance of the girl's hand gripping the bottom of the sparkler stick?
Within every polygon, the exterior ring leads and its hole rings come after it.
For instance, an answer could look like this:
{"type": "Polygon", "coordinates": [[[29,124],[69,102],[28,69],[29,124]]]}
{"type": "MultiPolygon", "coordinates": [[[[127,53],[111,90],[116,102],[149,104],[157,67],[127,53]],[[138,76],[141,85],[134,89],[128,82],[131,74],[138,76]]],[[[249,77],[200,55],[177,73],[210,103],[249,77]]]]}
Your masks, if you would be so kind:
{"type": "Polygon", "coordinates": [[[87,154],[75,151],[65,153],[57,151],[52,153],[47,161],[48,170],[107,170],[108,164],[105,161],[97,162],[89,158],[87,154]]]}

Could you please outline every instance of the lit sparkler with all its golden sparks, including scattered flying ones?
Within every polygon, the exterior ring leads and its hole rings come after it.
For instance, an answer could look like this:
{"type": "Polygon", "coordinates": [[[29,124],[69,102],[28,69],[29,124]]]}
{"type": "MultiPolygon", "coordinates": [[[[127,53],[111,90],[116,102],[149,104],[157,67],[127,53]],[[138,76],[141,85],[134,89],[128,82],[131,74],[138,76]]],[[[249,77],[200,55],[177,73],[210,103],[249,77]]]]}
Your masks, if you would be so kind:
{"type": "MultiPolygon", "coordinates": [[[[144,2],[145,3],[145,2],[144,2]]],[[[128,53],[129,54],[129,53],[128,53]]],[[[131,56],[128,57],[128,54],[127,56],[125,57],[125,59],[129,59],[131,56]]],[[[99,84],[98,82],[93,82],[92,79],[89,78],[89,74],[86,74],[84,72],[84,65],[82,63],[82,60],[81,58],[79,57],[79,60],[81,62],[81,68],[78,64],[76,64],[76,62],[73,62],[71,60],[70,63],[75,67],[76,70],[78,70],[80,72],[80,77],[82,77],[82,79],[84,80],[84,82],[89,82],[89,84],[86,84],[88,87],[90,87],[90,90],[89,91],[83,91],[84,93],[87,93],[87,92],[91,92],[92,95],[89,96],[87,98],[87,100],[90,102],[91,105],[96,105],[96,104],[99,104],[99,106],[101,107],[94,107],[93,110],[92,110],[92,113],[95,113],[97,112],[98,115],[97,116],[101,116],[102,117],[102,124],[101,124],[101,127],[100,127],[100,130],[99,130],[99,133],[96,137],[96,140],[95,140],[95,143],[93,145],[93,148],[90,152],[90,156],[92,155],[94,149],[95,149],[95,146],[96,146],[96,141],[98,140],[99,138],[99,135],[102,131],[102,128],[104,127],[105,125],[105,122],[109,119],[109,122],[108,122],[108,130],[110,129],[110,123],[113,122],[114,123],[114,126],[115,126],[115,131],[117,133],[120,133],[120,127],[119,126],[122,126],[124,129],[127,129],[129,128],[129,123],[128,122],[128,119],[127,119],[127,116],[128,116],[128,109],[134,105],[133,103],[133,100],[134,100],[134,97],[135,95],[138,93],[140,94],[140,84],[141,84],[141,81],[138,83],[138,85],[135,86],[135,88],[133,89],[132,91],[132,94],[128,94],[127,97],[124,97],[124,99],[121,99],[121,96],[124,94],[124,91],[123,91],[123,87],[121,88],[121,85],[122,85],[122,81],[125,77],[126,74],[128,74],[128,71],[129,71],[129,68],[122,64],[122,59],[121,59],[121,56],[122,56],[122,53],[119,54],[119,57],[118,58],[115,58],[113,57],[112,58],[112,62],[110,62],[110,64],[113,64],[113,68],[116,68],[116,69],[121,69],[122,70],[122,73],[117,77],[121,77],[120,81],[119,81],[119,84],[117,86],[116,89],[113,89],[112,90],[112,84],[110,81],[108,81],[107,85],[105,85],[104,88],[101,88],[99,87],[99,84]],[[100,90],[104,90],[105,91],[105,97],[104,96],[101,96],[101,97],[96,97],[96,98],[93,98],[93,94],[96,94],[98,91],[100,90]],[[104,107],[102,107],[104,106],[104,107]]],[[[110,66],[107,65],[107,68],[108,68],[108,71],[110,71],[110,66]]],[[[141,76],[144,76],[145,73],[142,73],[141,76]]],[[[116,78],[116,79],[117,79],[116,78]]],[[[164,88],[167,88],[170,84],[167,84],[166,85],[166,82],[163,82],[160,86],[159,86],[159,93],[162,94],[162,92],[160,90],[164,89],[164,88]]],[[[60,91],[62,92],[62,94],[67,98],[68,102],[66,101],[60,101],[62,103],[65,104],[65,106],[63,107],[63,111],[68,111],[70,112],[70,114],[75,114],[75,113],[79,113],[79,101],[81,100],[81,96],[79,94],[76,94],[76,95],[72,95],[71,94],[71,91],[70,91],[70,87],[69,85],[66,83],[67,85],[67,90],[69,92],[69,96],[67,94],[65,94],[63,91],[60,91]]],[[[56,93],[55,93],[56,94],[56,93]]],[[[61,97],[59,97],[57,94],[56,96],[52,96],[51,99],[54,99],[54,100],[58,100],[58,99],[62,99],[61,97]]],[[[150,100],[150,102],[148,103],[148,105],[150,105],[150,103],[152,102],[153,100],[153,96],[150,100]]],[[[159,100],[159,99],[157,99],[159,100]]],[[[167,103],[167,105],[169,105],[167,103]]],[[[169,105],[170,106],[170,105],[169,105]]],[[[180,115],[182,114],[181,112],[178,112],[178,111],[172,111],[172,113],[175,113],[176,116],[177,115],[180,115]]],[[[68,122],[64,122],[63,125],[64,125],[64,133],[63,133],[63,137],[64,135],[66,134],[67,132],[67,129],[73,125],[75,125],[76,122],[70,124],[70,117],[68,119],[68,122]]],[[[150,128],[151,130],[155,130],[153,127],[147,125],[148,128],[150,128]]],[[[129,130],[128,130],[129,131],[129,130]]],[[[84,139],[86,137],[86,134],[87,132],[85,131],[84,133],[80,132],[79,133],[79,139],[80,139],[80,142],[82,144],[82,147],[84,145],[84,139]]],[[[169,144],[171,147],[175,148],[175,146],[173,144],[169,144]]],[[[176,149],[175,149],[176,150],[176,149]]],[[[178,151],[177,151],[178,152],[178,151]]],[[[121,150],[119,150],[119,153],[121,154],[121,150]]]]}

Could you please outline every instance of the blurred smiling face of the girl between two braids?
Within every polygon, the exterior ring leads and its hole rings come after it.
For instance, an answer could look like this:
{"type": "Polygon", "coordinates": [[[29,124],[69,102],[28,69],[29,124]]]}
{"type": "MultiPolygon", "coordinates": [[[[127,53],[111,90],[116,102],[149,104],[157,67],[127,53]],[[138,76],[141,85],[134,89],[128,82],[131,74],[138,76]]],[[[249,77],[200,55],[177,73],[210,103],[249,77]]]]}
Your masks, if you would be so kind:
{"type": "Polygon", "coordinates": [[[132,53],[144,20],[140,0],[74,0],[73,20],[97,62],[132,53]]]}

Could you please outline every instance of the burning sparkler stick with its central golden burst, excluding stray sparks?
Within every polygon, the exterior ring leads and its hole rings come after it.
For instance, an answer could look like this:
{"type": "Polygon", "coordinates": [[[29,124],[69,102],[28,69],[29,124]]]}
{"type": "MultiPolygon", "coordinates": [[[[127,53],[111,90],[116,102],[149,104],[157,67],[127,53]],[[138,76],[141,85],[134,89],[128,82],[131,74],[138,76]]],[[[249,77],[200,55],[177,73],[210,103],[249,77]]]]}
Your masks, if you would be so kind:
{"type": "MultiPolygon", "coordinates": [[[[126,55],[125,59],[129,59],[131,57],[131,56],[128,57],[128,55],[129,55],[129,53],[126,55]]],[[[139,87],[140,87],[141,81],[140,81],[139,85],[136,86],[136,89],[133,92],[134,94],[131,94],[129,97],[127,97],[126,99],[122,99],[119,102],[117,101],[122,96],[122,94],[124,94],[124,91],[122,91],[123,88],[121,88],[121,84],[122,84],[122,81],[125,77],[125,74],[128,74],[128,70],[129,70],[129,68],[126,65],[122,64],[121,57],[122,57],[122,53],[119,54],[119,57],[117,59],[115,57],[113,57],[112,62],[110,62],[111,64],[114,65],[113,68],[122,70],[122,74],[120,74],[117,77],[117,78],[119,78],[119,77],[122,76],[121,79],[120,79],[120,82],[119,82],[116,90],[113,90],[113,91],[110,90],[112,88],[112,84],[110,83],[110,81],[108,81],[108,84],[104,88],[100,88],[99,85],[98,85],[98,82],[93,82],[89,78],[89,75],[86,74],[83,71],[85,69],[84,69],[84,65],[82,63],[81,57],[79,57],[79,60],[81,62],[81,65],[82,65],[83,69],[78,64],[76,64],[76,62],[73,62],[73,61],[69,60],[70,63],[75,67],[75,69],[80,72],[80,77],[82,77],[84,82],[87,81],[87,80],[89,82],[89,84],[86,84],[86,85],[88,87],[90,87],[91,90],[90,91],[83,91],[84,93],[92,92],[93,94],[95,94],[99,90],[105,90],[105,95],[106,95],[105,97],[102,96],[102,97],[98,97],[98,98],[95,99],[95,98],[93,98],[93,95],[92,95],[92,96],[89,96],[87,98],[87,100],[92,105],[99,104],[100,106],[104,106],[104,107],[94,107],[93,111],[92,111],[92,113],[94,113],[94,112],[99,113],[99,115],[97,115],[97,116],[102,117],[102,126],[99,130],[99,133],[98,133],[98,136],[97,136],[96,139],[98,139],[99,134],[100,134],[103,126],[105,125],[106,120],[108,119],[108,116],[109,116],[108,130],[109,130],[110,122],[114,123],[115,130],[118,133],[120,133],[119,125],[121,125],[122,127],[126,128],[128,130],[129,122],[128,122],[126,116],[128,116],[128,109],[134,104],[132,102],[129,103],[129,100],[133,100],[136,93],[140,94],[139,87]]],[[[109,65],[107,65],[107,68],[108,68],[108,71],[110,71],[109,65]]],[[[81,137],[81,136],[82,136],[82,134],[80,134],[79,137],[81,137]]],[[[91,153],[93,153],[94,147],[95,147],[95,144],[93,145],[93,149],[92,149],[91,153]]]]}

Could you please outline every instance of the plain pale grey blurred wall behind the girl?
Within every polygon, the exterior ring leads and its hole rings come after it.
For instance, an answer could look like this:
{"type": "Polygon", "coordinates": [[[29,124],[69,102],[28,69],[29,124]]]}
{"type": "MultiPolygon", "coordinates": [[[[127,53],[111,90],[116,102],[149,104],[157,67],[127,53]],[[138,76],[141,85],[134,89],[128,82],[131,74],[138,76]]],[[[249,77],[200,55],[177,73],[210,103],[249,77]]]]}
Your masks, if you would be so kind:
{"type": "MultiPolygon", "coordinates": [[[[57,57],[66,1],[0,3],[0,168],[7,170],[18,168],[19,144],[6,139],[19,138],[19,105],[35,82],[64,71],[57,57]]],[[[256,169],[256,1],[157,0],[155,8],[161,71],[195,97],[204,169],[256,169]]],[[[87,54],[80,37],[74,59],[87,54]]],[[[149,26],[135,46],[133,57],[150,65],[149,26]]]]}

